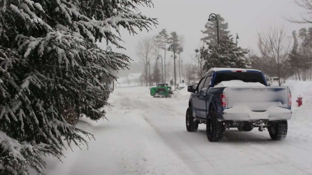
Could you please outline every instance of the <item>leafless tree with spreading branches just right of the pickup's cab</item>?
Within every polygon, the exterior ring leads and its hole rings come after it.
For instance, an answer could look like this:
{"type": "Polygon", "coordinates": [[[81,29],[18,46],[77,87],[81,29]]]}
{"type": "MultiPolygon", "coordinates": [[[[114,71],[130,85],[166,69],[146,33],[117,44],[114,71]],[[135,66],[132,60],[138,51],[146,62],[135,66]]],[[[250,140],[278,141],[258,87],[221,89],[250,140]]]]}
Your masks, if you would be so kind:
{"type": "Polygon", "coordinates": [[[289,64],[290,40],[286,37],[285,27],[270,27],[258,33],[258,47],[261,61],[271,74],[279,78],[279,86],[292,75],[289,64]]]}

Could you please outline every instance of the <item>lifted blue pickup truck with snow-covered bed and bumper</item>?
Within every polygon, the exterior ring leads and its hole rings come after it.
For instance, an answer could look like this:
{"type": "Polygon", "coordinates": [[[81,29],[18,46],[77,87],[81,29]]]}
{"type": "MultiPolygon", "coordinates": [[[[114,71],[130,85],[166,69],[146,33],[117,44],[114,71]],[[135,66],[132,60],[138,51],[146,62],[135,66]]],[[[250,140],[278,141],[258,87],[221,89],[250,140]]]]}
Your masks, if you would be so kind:
{"type": "Polygon", "coordinates": [[[259,131],[267,128],[272,140],[282,140],[291,118],[288,87],[270,87],[259,70],[212,68],[192,92],[186,111],[186,128],[197,131],[206,124],[207,138],[220,141],[229,128],[259,131]]]}

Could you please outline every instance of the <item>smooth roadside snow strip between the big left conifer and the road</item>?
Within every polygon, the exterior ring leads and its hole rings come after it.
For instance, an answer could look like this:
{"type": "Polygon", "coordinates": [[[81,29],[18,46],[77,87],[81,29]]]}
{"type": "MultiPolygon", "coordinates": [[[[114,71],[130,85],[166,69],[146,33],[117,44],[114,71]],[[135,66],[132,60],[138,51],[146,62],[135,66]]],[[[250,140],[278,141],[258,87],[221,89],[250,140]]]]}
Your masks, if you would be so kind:
{"type": "MultiPolygon", "coordinates": [[[[64,163],[48,158],[46,174],[192,174],[144,119],[148,106],[138,106],[135,100],[118,94],[123,90],[116,88],[110,96],[109,102],[114,107],[106,109],[109,122],[96,123],[86,118],[79,121],[80,128],[95,136],[96,140],[89,142],[89,150],[86,147],[83,150],[75,148],[75,152],[67,150],[64,163]],[[51,164],[53,166],[49,166],[51,164]]],[[[148,92],[146,87],[133,90],[148,92]]]]}

